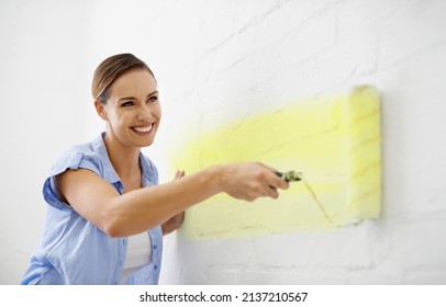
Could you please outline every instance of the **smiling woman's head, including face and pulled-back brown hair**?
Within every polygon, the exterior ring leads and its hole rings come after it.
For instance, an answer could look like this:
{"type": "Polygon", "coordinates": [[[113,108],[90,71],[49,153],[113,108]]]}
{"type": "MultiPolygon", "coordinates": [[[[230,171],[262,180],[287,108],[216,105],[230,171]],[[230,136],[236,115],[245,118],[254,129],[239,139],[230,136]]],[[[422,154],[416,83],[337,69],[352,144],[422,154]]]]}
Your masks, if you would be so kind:
{"type": "Polygon", "coordinates": [[[126,144],[126,135],[133,140],[130,146],[152,145],[161,110],[155,76],[145,62],[130,54],[108,58],[97,68],[91,90],[97,112],[108,124],[105,144],[115,137],[126,144]]]}

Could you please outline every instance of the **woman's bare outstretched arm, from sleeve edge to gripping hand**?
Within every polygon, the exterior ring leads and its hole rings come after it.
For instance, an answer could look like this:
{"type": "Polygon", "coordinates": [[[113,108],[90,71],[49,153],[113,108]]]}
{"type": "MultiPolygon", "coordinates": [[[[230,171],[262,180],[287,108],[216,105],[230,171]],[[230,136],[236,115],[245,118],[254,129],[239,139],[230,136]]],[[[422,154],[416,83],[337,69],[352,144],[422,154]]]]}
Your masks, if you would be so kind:
{"type": "Polygon", "coordinates": [[[171,182],[123,195],[89,170],[67,170],[56,178],[59,193],[81,216],[112,237],[130,236],[161,225],[218,193],[254,201],[278,197],[288,183],[261,163],[208,168],[171,182]]]}

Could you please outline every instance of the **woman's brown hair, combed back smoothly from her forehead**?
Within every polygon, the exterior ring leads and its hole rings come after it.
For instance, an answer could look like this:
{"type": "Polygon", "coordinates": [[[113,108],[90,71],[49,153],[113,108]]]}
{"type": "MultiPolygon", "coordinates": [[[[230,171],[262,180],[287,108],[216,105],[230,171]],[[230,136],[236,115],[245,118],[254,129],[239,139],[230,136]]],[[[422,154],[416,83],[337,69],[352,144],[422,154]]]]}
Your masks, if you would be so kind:
{"type": "Polygon", "coordinates": [[[150,68],[132,54],[119,54],[104,59],[96,69],[91,84],[91,93],[100,103],[105,104],[110,95],[110,87],[125,71],[146,69],[155,78],[150,68]]]}

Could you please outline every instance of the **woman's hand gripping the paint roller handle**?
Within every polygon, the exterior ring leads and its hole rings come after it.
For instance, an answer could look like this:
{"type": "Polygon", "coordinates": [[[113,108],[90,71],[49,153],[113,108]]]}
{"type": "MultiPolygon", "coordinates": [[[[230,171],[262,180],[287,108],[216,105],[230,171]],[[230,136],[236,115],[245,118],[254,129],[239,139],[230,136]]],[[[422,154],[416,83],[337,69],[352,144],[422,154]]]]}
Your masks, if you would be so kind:
{"type": "Polygon", "coordinates": [[[286,190],[288,182],[276,170],[263,163],[234,163],[224,166],[223,191],[228,195],[253,202],[258,197],[279,197],[277,189],[286,190]]]}

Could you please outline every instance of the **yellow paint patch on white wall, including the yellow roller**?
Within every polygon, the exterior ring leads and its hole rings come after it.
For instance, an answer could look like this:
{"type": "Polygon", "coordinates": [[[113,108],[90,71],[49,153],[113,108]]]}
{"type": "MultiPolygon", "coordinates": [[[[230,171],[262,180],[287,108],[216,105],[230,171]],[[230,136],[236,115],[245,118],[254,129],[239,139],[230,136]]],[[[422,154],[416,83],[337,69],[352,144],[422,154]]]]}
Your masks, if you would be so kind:
{"type": "Polygon", "coordinates": [[[172,164],[187,173],[235,161],[301,171],[326,213],[302,182],[290,183],[276,201],[220,194],[187,212],[181,231],[193,239],[327,230],[380,213],[379,94],[372,87],[255,115],[203,135],[181,152],[172,164]]]}

